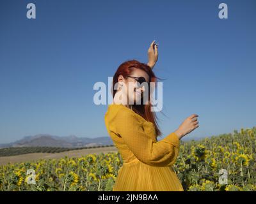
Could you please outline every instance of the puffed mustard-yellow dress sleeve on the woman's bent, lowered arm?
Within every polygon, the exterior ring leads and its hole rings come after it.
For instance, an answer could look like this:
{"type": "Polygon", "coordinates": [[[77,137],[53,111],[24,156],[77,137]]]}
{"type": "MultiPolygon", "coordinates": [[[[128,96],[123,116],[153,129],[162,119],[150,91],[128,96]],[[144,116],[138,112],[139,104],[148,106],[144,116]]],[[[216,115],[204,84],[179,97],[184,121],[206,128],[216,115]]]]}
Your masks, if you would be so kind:
{"type": "Polygon", "coordinates": [[[143,130],[142,123],[130,110],[118,110],[114,126],[134,156],[141,162],[154,166],[172,166],[179,154],[179,138],[170,133],[163,140],[155,142],[143,130]]]}

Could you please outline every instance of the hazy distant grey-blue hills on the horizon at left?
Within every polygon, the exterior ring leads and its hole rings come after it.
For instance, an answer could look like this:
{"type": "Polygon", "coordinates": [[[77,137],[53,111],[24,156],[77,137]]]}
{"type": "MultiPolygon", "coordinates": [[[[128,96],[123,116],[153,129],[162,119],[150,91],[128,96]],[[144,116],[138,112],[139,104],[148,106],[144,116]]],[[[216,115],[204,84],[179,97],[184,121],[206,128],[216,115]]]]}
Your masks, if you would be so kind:
{"type": "Polygon", "coordinates": [[[113,141],[108,136],[98,138],[79,138],[75,135],[55,136],[48,134],[38,134],[34,136],[24,136],[21,140],[12,143],[0,144],[0,148],[5,147],[94,147],[99,145],[113,145],[113,141]]]}

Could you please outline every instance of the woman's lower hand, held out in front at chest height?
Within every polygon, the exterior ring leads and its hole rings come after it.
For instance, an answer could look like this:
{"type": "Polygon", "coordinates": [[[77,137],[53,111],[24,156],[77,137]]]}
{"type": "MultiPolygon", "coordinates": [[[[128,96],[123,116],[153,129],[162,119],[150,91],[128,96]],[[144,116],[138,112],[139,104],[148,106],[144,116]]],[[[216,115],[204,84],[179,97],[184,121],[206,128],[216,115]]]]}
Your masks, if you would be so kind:
{"type": "Polygon", "coordinates": [[[198,115],[192,114],[188,118],[182,122],[182,124],[179,126],[179,128],[175,131],[175,134],[179,137],[182,138],[183,136],[187,135],[194,129],[198,128],[198,121],[197,121],[198,115]]]}

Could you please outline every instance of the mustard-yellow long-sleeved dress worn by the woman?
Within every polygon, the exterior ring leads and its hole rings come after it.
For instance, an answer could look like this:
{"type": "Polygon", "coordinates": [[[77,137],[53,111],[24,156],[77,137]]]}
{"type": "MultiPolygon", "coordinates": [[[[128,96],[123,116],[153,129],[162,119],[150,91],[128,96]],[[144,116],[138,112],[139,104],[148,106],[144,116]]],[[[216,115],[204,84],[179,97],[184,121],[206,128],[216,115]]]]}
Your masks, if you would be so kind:
{"type": "Polygon", "coordinates": [[[124,105],[108,105],[104,120],[124,161],[113,191],[184,191],[172,168],[179,154],[175,133],[157,142],[154,124],[124,105]]]}

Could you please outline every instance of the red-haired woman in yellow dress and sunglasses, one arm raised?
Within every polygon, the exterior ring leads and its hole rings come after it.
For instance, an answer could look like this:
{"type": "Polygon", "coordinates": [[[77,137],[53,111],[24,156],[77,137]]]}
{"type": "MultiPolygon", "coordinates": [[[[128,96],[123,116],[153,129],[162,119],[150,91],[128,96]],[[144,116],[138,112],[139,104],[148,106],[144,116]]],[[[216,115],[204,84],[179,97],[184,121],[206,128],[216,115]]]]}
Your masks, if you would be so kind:
{"type": "Polygon", "coordinates": [[[156,82],[152,68],[157,57],[157,45],[153,41],[148,49],[148,64],[126,61],[113,77],[118,90],[112,89],[113,103],[108,106],[104,120],[124,161],[113,191],[183,191],[172,165],[179,154],[180,138],[198,128],[198,115],[189,116],[176,131],[157,141],[161,131],[157,127],[156,115],[150,111],[150,94],[148,104],[136,103],[145,96],[141,92],[148,91],[145,85],[139,86],[137,82],[156,82]],[[127,103],[131,98],[135,104],[127,103]]]}

